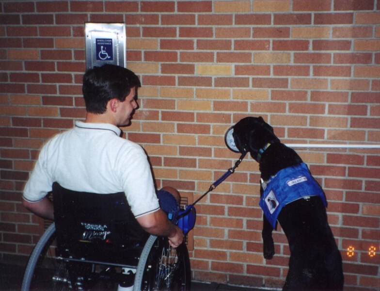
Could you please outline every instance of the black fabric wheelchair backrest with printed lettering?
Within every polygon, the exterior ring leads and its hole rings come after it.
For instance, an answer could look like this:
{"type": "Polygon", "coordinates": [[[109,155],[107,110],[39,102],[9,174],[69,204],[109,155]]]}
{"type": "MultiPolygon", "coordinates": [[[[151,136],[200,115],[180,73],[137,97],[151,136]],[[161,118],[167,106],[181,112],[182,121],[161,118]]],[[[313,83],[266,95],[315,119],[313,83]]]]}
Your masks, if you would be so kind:
{"type": "Polygon", "coordinates": [[[55,182],[53,204],[57,245],[67,256],[110,259],[123,249],[142,248],[149,236],[135,219],[124,192],[77,192],[55,182]]]}

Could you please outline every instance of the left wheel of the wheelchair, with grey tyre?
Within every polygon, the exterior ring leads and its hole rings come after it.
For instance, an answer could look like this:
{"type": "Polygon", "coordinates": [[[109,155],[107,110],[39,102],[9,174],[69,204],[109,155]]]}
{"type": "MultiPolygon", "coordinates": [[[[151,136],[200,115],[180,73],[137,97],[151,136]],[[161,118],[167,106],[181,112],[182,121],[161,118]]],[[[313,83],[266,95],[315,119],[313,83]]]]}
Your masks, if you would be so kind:
{"type": "Polygon", "coordinates": [[[55,258],[55,225],[51,224],[35,245],[24,279],[22,291],[68,290],[68,271],[63,260],[55,258]]]}

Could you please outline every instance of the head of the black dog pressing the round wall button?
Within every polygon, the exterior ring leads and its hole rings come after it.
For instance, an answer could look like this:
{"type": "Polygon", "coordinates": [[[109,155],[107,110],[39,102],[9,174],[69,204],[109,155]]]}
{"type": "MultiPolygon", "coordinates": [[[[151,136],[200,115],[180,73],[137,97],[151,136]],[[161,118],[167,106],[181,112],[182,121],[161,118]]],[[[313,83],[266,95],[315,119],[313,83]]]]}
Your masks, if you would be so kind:
{"type": "Polygon", "coordinates": [[[241,153],[250,152],[257,161],[259,150],[268,143],[279,143],[273,128],[260,117],[245,117],[235,126],[233,132],[235,145],[241,153]]]}

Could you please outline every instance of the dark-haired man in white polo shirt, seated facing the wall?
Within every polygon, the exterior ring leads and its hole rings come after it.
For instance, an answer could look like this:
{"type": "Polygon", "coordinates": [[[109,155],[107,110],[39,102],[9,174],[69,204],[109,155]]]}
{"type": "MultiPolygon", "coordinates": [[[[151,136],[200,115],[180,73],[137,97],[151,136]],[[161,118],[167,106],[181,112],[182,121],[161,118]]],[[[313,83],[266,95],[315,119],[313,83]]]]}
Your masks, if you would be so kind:
{"type": "MultiPolygon", "coordinates": [[[[53,184],[56,189],[66,191],[63,196],[70,191],[104,194],[104,197],[124,193],[131,213],[147,233],[167,237],[173,248],[181,245],[183,231],[160,208],[143,148],[123,138],[119,128],[130,124],[138,108],[140,86],[138,77],[121,66],[107,64],[84,74],[82,91],[86,118],[76,121],[73,129],[54,136],[42,147],[24,188],[24,207],[45,219],[55,219],[57,226],[60,218],[55,216],[63,202],[57,198],[53,207],[47,197],[53,190],[55,199],[53,184]]],[[[164,190],[174,196],[178,194],[171,187],[164,190]]],[[[87,204],[86,201],[80,203],[87,204]]],[[[64,217],[64,213],[61,216],[64,217]]],[[[94,230],[101,230],[101,226],[85,227],[92,232],[84,240],[93,237],[94,230]]]]}

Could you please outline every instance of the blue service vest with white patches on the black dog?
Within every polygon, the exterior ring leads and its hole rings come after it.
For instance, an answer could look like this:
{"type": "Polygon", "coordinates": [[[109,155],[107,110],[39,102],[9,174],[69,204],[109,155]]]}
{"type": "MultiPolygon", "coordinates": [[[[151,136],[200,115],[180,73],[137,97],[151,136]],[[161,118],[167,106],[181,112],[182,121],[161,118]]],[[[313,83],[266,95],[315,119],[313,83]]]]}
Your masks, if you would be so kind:
{"type": "Polygon", "coordinates": [[[321,187],[311,176],[307,165],[301,163],[282,169],[276,176],[270,178],[259,205],[274,229],[281,209],[304,196],[320,196],[324,206],[327,205],[321,187]]]}

